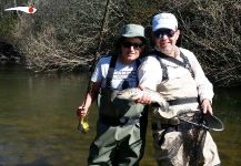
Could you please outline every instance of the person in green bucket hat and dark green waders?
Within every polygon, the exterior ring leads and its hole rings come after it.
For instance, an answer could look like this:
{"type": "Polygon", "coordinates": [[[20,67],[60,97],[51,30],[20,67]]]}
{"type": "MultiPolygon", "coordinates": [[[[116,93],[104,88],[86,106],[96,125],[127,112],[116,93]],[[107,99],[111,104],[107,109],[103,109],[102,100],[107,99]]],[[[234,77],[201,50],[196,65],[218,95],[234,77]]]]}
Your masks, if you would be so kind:
{"type": "Polygon", "coordinates": [[[127,24],[121,30],[114,54],[102,56],[96,66],[87,100],[77,111],[79,117],[86,116],[99,95],[97,136],[90,146],[88,165],[139,165],[147,129],[144,106],[119,100],[116,93],[138,86],[139,58],[145,43],[144,28],[127,24]]]}

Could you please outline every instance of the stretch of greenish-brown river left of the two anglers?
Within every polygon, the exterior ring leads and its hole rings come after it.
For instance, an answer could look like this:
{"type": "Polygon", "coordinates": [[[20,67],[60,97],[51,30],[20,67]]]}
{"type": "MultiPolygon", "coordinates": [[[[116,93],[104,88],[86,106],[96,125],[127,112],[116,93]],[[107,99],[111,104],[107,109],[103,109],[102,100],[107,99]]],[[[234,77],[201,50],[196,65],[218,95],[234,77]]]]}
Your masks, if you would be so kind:
{"type": "MultiPolygon", "coordinates": [[[[87,76],[0,73],[0,165],[84,164],[93,133],[76,129],[87,76]]],[[[92,129],[93,131],[93,129],[92,129]]]]}

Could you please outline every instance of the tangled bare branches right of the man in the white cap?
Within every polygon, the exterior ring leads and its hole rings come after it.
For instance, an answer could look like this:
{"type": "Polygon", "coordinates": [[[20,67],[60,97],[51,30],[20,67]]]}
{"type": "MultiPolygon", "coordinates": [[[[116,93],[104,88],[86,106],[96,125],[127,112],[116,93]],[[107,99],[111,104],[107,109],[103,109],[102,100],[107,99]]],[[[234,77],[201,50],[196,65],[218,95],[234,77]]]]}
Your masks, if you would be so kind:
{"type": "Polygon", "coordinates": [[[241,81],[240,1],[193,1],[178,6],[181,44],[193,50],[215,84],[241,81]]]}

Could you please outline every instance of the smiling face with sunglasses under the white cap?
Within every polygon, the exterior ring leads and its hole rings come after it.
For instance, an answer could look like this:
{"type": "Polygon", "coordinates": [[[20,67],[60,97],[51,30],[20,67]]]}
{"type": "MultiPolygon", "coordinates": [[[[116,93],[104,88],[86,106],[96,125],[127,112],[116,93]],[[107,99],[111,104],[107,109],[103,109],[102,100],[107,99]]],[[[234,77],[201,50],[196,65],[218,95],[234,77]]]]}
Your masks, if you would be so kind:
{"type": "Polygon", "coordinates": [[[155,46],[167,55],[174,55],[175,44],[179,39],[180,31],[160,29],[159,33],[154,33],[155,46]],[[171,32],[172,31],[172,32],[171,32]]]}

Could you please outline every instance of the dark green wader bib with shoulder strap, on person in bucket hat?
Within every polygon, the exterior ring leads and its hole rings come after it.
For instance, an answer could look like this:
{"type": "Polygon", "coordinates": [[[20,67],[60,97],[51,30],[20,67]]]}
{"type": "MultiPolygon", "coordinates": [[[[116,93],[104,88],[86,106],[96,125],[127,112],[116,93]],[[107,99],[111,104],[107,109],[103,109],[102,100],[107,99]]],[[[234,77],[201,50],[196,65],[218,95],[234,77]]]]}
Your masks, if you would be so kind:
{"type": "MultiPolygon", "coordinates": [[[[124,125],[127,123],[137,123],[143,111],[142,104],[137,104],[129,100],[117,98],[117,90],[111,86],[114,68],[118,56],[112,56],[107,74],[106,87],[101,89],[98,105],[100,121],[108,125],[124,125]]],[[[137,60],[137,66],[140,61],[137,60]]],[[[123,83],[124,85],[124,83],[123,83]]],[[[127,87],[125,87],[127,89],[127,87]]]]}

